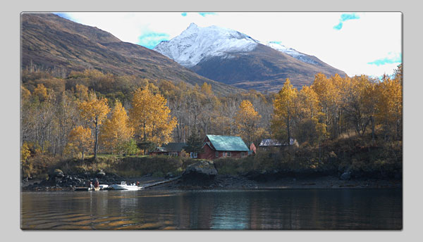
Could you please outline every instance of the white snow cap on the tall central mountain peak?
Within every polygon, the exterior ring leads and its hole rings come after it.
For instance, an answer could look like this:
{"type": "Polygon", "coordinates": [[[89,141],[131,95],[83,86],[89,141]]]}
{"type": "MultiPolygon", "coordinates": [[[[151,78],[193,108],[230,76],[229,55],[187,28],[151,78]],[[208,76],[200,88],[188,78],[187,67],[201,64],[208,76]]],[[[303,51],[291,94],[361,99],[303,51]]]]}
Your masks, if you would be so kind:
{"type": "Polygon", "coordinates": [[[252,51],[257,44],[257,40],[235,30],[191,23],[177,37],[160,42],[154,51],[190,68],[209,56],[231,58],[231,53],[252,51]]]}

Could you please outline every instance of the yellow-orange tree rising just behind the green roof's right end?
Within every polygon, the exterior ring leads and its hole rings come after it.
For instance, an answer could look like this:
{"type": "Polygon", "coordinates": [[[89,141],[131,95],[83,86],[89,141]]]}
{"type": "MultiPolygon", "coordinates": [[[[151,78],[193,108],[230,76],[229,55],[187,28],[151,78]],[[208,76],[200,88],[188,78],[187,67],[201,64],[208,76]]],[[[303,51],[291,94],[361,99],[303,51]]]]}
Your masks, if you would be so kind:
{"type": "Polygon", "coordinates": [[[235,122],[240,136],[247,141],[248,146],[255,139],[257,124],[261,117],[250,101],[244,100],[240,103],[238,112],[235,115],[235,122]]]}

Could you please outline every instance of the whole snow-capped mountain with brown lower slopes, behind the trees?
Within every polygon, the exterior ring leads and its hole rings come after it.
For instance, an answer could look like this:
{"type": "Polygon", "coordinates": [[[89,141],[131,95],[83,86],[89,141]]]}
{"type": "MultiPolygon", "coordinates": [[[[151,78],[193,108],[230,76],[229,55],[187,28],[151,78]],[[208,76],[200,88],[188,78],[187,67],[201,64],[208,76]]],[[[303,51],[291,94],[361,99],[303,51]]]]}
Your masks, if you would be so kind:
{"type": "Polygon", "coordinates": [[[312,84],[314,75],[345,75],[315,56],[275,42],[264,43],[223,27],[194,23],[180,35],[154,47],[197,74],[225,84],[278,91],[289,78],[294,87],[312,84]]]}

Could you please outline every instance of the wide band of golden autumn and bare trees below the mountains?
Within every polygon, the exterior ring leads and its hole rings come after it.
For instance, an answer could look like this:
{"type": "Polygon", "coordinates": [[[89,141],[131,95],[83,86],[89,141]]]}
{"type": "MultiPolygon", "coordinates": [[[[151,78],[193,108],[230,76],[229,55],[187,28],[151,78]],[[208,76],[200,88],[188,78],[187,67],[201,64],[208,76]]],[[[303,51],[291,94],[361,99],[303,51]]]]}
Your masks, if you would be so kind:
{"type": "Polygon", "coordinates": [[[277,94],[227,96],[207,83],[23,70],[22,155],[132,154],[205,134],[238,135],[256,146],[266,138],[316,146],[348,133],[402,140],[402,84],[402,65],[381,80],[319,73],[300,90],[287,79],[277,94]]]}

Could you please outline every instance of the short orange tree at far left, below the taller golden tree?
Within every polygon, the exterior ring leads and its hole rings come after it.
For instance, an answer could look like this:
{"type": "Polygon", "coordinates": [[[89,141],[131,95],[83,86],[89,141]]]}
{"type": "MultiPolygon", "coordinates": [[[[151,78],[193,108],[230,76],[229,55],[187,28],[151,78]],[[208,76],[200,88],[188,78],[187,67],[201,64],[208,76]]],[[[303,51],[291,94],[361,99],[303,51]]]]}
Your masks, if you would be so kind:
{"type": "Polygon", "coordinates": [[[85,152],[92,146],[91,129],[82,126],[75,127],[69,132],[66,150],[70,153],[80,152],[84,160],[85,152]]]}

